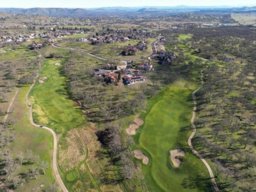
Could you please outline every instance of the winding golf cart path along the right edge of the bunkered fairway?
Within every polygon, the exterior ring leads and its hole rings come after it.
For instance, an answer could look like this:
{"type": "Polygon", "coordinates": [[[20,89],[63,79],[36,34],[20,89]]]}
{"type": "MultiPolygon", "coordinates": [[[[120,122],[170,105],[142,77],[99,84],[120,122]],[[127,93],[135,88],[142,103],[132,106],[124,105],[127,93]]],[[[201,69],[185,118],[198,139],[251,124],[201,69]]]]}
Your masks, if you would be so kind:
{"type": "MultiPolygon", "coordinates": [[[[203,84],[203,70],[201,71],[201,83],[203,84]]],[[[215,189],[215,191],[219,192],[219,188],[217,186],[217,183],[215,182],[215,176],[213,174],[213,171],[211,170],[211,167],[209,166],[209,164],[207,163],[207,161],[205,161],[205,159],[203,159],[202,155],[200,155],[200,153],[198,153],[198,151],[196,151],[196,149],[193,147],[192,145],[192,138],[194,137],[194,135],[196,134],[196,126],[194,125],[194,119],[196,117],[196,92],[198,92],[198,90],[200,90],[200,87],[196,90],[194,90],[194,92],[192,92],[192,97],[193,97],[193,102],[194,102],[194,109],[193,109],[193,115],[191,118],[191,125],[193,126],[193,131],[192,134],[190,135],[190,137],[188,138],[188,145],[190,147],[190,149],[192,150],[192,152],[198,156],[199,159],[201,159],[201,161],[203,162],[203,164],[205,164],[205,166],[207,167],[207,170],[210,174],[211,177],[211,182],[213,183],[213,187],[215,189]]]]}

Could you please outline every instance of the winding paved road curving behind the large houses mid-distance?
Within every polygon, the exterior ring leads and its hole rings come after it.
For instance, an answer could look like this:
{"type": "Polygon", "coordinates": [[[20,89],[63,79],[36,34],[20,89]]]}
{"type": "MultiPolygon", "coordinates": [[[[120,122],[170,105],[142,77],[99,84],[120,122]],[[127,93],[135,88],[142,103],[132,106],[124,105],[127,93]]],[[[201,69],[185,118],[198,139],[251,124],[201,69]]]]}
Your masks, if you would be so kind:
{"type": "MultiPolygon", "coordinates": [[[[156,54],[156,43],[158,41],[154,41],[153,43],[151,43],[151,47],[152,47],[152,54],[149,54],[148,56],[146,56],[146,58],[149,58],[151,56],[154,56],[156,54]]],[[[56,43],[53,43],[53,47],[57,47],[57,48],[64,48],[64,49],[68,49],[68,50],[78,50],[78,51],[81,51],[81,52],[85,52],[95,58],[98,58],[98,59],[101,59],[101,60],[116,60],[116,59],[110,59],[110,58],[106,58],[104,56],[98,56],[96,54],[94,54],[93,52],[88,52],[87,50],[82,50],[82,49],[79,49],[79,48],[70,48],[70,47],[61,47],[60,45],[58,45],[59,42],[56,42],[56,43]]],[[[139,61],[141,59],[131,59],[131,60],[121,60],[121,61],[125,61],[125,62],[129,62],[129,61],[139,61]]]]}

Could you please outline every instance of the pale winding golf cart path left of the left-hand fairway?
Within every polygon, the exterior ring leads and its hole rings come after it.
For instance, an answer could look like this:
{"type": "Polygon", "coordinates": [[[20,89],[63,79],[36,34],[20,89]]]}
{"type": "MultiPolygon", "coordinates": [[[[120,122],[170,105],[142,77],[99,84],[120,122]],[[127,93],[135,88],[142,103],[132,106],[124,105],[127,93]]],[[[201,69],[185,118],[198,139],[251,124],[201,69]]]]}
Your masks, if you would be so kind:
{"type": "MultiPolygon", "coordinates": [[[[28,106],[30,106],[30,112],[29,112],[30,113],[30,123],[33,126],[40,128],[41,125],[37,125],[33,122],[32,104],[31,104],[30,100],[28,100],[28,95],[30,94],[30,90],[32,90],[33,86],[35,85],[35,81],[36,81],[38,75],[39,75],[39,71],[37,72],[35,79],[33,79],[33,84],[30,86],[28,92],[26,93],[26,102],[28,103],[28,106]]],[[[62,191],[68,192],[68,189],[62,182],[62,179],[60,178],[60,174],[58,173],[58,167],[57,167],[57,142],[58,142],[58,140],[57,140],[56,133],[51,128],[49,128],[47,126],[43,126],[41,128],[48,130],[53,135],[53,172],[54,172],[54,175],[56,176],[56,180],[57,180],[58,184],[60,185],[62,191]]]]}

